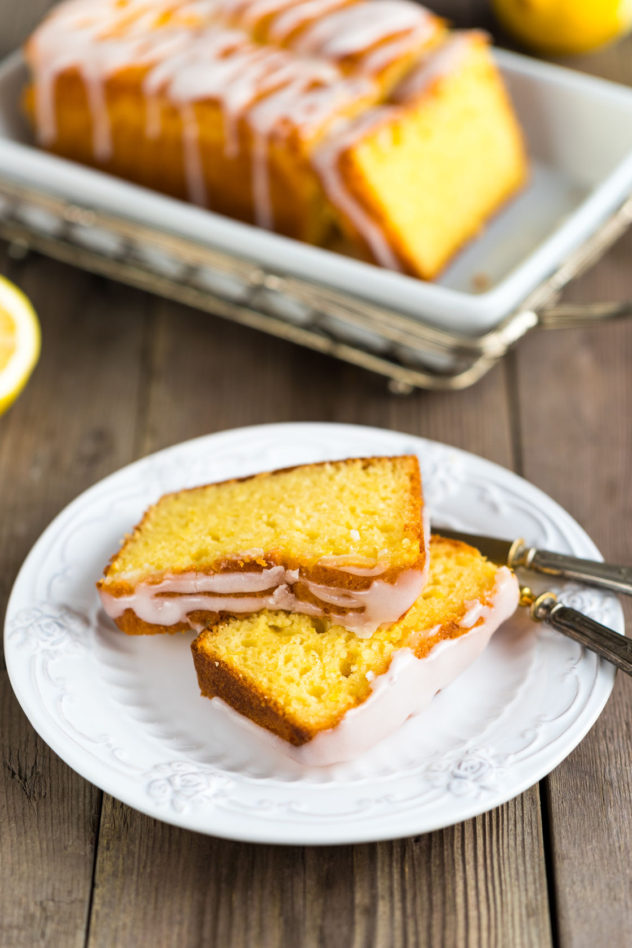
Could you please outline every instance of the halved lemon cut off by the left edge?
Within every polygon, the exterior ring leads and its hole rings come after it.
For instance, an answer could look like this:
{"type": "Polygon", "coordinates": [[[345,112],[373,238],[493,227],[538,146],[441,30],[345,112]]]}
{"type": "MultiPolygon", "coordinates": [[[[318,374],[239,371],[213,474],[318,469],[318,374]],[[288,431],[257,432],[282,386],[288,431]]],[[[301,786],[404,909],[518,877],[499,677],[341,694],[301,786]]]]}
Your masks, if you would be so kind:
{"type": "Polygon", "coordinates": [[[17,286],[0,276],[0,414],[26,385],[39,353],[35,310],[17,286]]]}

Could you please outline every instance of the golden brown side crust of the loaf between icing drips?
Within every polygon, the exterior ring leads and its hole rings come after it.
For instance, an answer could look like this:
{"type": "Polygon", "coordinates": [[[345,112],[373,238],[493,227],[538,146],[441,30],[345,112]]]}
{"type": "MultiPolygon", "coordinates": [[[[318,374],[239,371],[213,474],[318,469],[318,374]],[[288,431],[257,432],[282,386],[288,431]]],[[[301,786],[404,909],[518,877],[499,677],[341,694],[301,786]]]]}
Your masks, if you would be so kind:
{"type": "MultiPolygon", "coordinates": [[[[28,55],[28,46],[27,46],[28,55]]],[[[183,121],[177,105],[160,97],[160,135],[145,134],[145,99],[142,83],[146,68],[131,67],[105,79],[112,148],[109,156],[97,157],[91,135],[92,110],[81,72],[68,68],[55,82],[55,124],[57,137],[49,150],[83,165],[136,182],[184,201],[190,200],[182,147],[183,121]]],[[[23,96],[24,111],[37,128],[35,90],[31,85],[23,96]]],[[[372,100],[371,100],[372,101],[372,100]]],[[[354,104],[354,111],[358,106],[354,104]]],[[[251,154],[253,144],[243,129],[240,147],[227,156],[218,148],[224,135],[222,112],[213,100],[193,106],[200,128],[202,176],[208,203],[216,213],[255,224],[251,154]]],[[[294,134],[287,148],[270,143],[268,167],[270,197],[275,230],[308,243],[327,240],[329,220],[324,213],[318,181],[305,157],[307,143],[294,134]]]]}

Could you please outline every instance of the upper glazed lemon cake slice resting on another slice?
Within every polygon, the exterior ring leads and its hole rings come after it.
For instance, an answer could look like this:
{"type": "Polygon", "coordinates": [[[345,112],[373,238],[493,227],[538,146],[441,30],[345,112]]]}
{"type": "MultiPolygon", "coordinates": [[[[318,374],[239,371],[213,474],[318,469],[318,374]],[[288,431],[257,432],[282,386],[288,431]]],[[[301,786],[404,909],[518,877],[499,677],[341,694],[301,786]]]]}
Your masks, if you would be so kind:
{"type": "Polygon", "coordinates": [[[423,524],[412,455],[303,465],[165,495],[98,589],[131,634],[269,608],[370,635],[421,592],[423,524]]]}

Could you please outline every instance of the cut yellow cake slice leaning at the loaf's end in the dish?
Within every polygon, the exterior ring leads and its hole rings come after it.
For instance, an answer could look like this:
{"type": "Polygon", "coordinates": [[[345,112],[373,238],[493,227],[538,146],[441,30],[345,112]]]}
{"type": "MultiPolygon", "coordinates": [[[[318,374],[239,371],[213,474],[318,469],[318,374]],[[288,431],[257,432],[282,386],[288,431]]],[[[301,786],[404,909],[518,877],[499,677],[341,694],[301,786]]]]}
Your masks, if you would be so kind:
{"type": "Polygon", "coordinates": [[[387,104],[325,139],[313,161],[350,242],[425,279],[527,175],[522,133],[478,31],[435,44],[387,104]]]}

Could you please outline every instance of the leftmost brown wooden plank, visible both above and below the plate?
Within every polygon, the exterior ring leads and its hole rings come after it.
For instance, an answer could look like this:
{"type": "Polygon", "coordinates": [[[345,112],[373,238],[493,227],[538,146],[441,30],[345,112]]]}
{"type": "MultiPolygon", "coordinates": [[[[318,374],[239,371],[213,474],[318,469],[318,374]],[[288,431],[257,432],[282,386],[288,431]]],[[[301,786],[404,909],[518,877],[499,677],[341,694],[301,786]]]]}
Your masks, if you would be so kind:
{"type": "MultiPolygon", "coordinates": [[[[43,331],[40,363],[0,419],[0,615],[32,542],[134,450],[143,298],[51,261],[7,266],[43,331]]],[[[0,943],[82,945],[101,794],[35,735],[0,673],[0,943]]]]}

